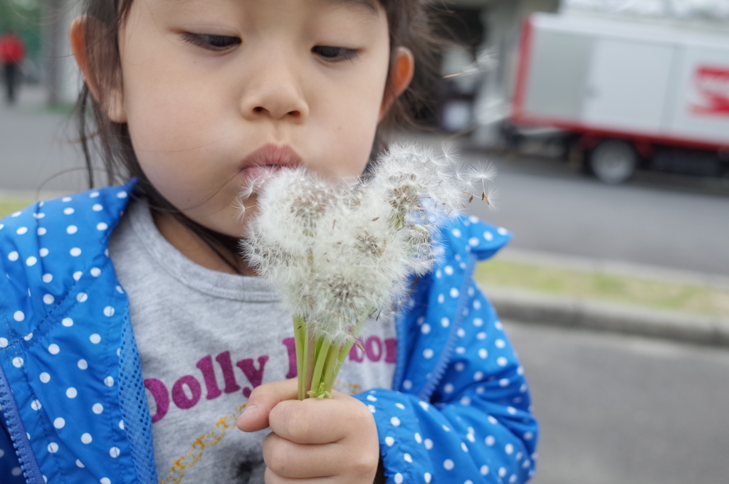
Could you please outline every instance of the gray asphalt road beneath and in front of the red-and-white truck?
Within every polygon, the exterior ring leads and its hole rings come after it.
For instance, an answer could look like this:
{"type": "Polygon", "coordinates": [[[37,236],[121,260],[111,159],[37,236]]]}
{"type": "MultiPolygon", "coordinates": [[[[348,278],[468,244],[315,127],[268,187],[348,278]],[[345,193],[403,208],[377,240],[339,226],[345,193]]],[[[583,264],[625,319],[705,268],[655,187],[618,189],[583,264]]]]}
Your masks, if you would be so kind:
{"type": "Polygon", "coordinates": [[[729,276],[729,190],[710,194],[712,181],[641,173],[614,187],[554,160],[490,159],[499,209],[468,210],[511,230],[514,248],[729,276]]]}

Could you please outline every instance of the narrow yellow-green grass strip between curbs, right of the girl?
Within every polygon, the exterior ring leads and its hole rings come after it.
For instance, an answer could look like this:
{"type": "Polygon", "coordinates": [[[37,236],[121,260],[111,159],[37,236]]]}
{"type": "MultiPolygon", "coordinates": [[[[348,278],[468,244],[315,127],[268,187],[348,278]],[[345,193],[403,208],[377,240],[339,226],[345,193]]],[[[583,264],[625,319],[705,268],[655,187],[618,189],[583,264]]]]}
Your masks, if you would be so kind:
{"type": "Polygon", "coordinates": [[[481,262],[475,279],[485,287],[524,289],[729,319],[729,289],[702,284],[545,267],[505,259],[481,262]]]}

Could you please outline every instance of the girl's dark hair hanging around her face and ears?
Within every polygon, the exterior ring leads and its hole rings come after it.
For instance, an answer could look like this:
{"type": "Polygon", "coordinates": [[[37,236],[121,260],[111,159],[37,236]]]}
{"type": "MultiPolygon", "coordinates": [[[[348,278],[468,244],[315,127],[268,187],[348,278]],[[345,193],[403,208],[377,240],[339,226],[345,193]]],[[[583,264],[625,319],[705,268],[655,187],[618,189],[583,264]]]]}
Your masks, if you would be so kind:
{"type": "MultiPolygon", "coordinates": [[[[416,74],[408,89],[394,101],[389,113],[378,125],[371,158],[387,148],[387,135],[393,128],[416,125],[411,113],[421,104],[430,79],[434,77],[437,47],[440,45],[432,34],[432,20],[426,0],[378,1],[387,14],[391,61],[394,61],[393,54],[397,47],[408,47],[416,59],[416,74]]],[[[102,92],[122,87],[118,34],[128,17],[132,2],[133,0],[84,0],[83,12],[89,19],[86,22],[85,39],[87,62],[92,77],[90,80],[102,92]]],[[[393,67],[391,62],[386,93],[391,93],[390,74],[393,67]]],[[[92,156],[92,151],[95,151],[98,152],[100,168],[106,175],[107,182],[126,182],[132,177],[139,179],[136,196],[147,198],[152,210],[173,215],[239,273],[235,263],[238,240],[193,222],[157,191],[136,159],[128,125],[109,120],[102,106],[104,98],[101,97],[100,100],[94,99],[85,83],[77,103],[79,139],[90,187],[95,184],[95,163],[92,156]]]]}

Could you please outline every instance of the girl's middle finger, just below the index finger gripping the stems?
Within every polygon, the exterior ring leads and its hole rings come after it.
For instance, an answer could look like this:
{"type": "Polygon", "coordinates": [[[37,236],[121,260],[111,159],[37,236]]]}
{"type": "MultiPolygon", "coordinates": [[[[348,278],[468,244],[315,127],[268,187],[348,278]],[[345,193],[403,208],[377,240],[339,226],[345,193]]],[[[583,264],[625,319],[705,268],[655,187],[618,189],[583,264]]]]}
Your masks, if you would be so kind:
{"type": "Polygon", "coordinates": [[[268,475],[286,479],[313,479],[340,475],[353,456],[340,444],[300,445],[268,434],[263,441],[263,460],[268,475]]]}

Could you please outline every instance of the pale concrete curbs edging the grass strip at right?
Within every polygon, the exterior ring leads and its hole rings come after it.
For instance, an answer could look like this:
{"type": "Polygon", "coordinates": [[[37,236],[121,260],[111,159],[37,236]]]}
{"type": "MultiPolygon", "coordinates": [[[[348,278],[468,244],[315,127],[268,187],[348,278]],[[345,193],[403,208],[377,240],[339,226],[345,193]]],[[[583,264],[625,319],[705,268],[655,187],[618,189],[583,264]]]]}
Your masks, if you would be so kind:
{"type": "MultiPolygon", "coordinates": [[[[507,268],[509,265],[526,265],[533,269],[546,270],[555,278],[564,273],[585,273],[595,277],[611,276],[613,279],[625,281],[625,284],[639,281],[663,286],[702,288],[711,297],[715,297],[718,303],[715,311],[706,308],[704,313],[700,313],[660,308],[652,302],[615,302],[610,300],[612,294],[607,291],[585,297],[583,294],[575,294],[574,291],[570,293],[530,289],[529,286],[534,286],[534,281],[529,280],[521,281],[521,284],[514,280],[508,281],[508,285],[500,284],[502,281],[499,281],[496,273],[494,277],[488,277],[489,263],[487,261],[480,265],[476,278],[502,319],[729,347],[727,278],[514,249],[504,249],[491,262],[494,265],[506,265],[507,268]]],[[[676,305],[681,306],[680,302],[676,305]]],[[[704,308],[701,309],[704,311],[704,308]]]]}

